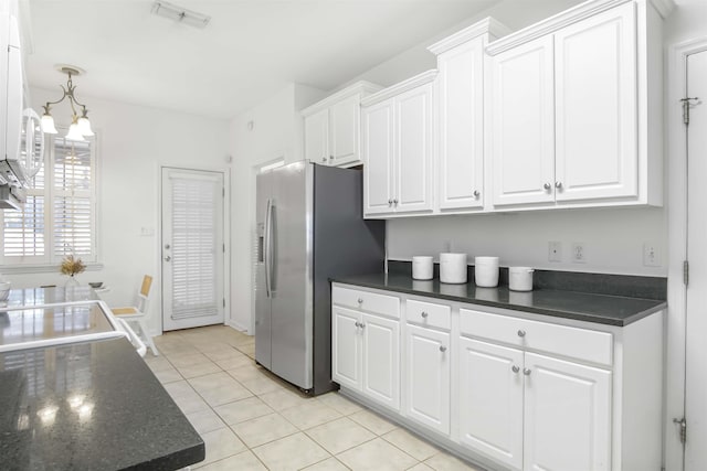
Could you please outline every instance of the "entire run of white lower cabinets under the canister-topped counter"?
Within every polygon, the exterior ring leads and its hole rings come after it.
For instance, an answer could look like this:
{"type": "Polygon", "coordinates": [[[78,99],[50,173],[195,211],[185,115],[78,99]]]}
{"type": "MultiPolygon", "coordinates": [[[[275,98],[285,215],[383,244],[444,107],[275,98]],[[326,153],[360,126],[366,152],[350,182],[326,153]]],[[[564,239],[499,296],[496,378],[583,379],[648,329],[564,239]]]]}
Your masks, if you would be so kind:
{"type": "Polygon", "coordinates": [[[489,470],[661,468],[661,312],[612,327],[339,283],[333,302],[342,392],[461,457],[489,470]]]}

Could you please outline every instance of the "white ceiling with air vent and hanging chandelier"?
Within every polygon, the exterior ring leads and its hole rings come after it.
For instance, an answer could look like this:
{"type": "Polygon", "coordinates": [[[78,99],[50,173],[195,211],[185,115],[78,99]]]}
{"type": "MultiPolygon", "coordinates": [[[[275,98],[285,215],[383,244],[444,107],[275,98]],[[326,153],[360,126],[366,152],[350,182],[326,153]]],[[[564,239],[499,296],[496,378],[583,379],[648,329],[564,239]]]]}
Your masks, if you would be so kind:
{"type": "Polygon", "coordinates": [[[76,95],[232,118],[286,83],[333,89],[499,0],[170,0],[212,17],[200,30],[151,0],[30,0],[31,85],[55,64],[86,71],[76,95]]]}

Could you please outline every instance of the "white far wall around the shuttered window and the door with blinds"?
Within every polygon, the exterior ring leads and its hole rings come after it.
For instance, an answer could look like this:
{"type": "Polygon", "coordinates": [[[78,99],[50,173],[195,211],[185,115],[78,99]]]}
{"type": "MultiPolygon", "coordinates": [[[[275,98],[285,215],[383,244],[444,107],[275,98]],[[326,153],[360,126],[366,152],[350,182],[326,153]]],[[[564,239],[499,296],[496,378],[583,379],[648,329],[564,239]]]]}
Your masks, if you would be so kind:
{"type": "MultiPolygon", "coordinates": [[[[57,84],[59,85],[59,84],[57,84]]],[[[78,84],[81,85],[81,84],[78,84]]],[[[32,89],[34,109],[55,100],[53,90],[32,89]]],[[[80,275],[82,282],[104,281],[108,304],[133,303],[143,275],[155,277],[148,313],[150,328],[161,329],[160,292],[160,165],[229,171],[225,120],[81,96],[89,108],[98,136],[97,226],[99,261],[104,269],[80,275]],[[143,227],[154,236],[141,236],[143,227]]],[[[70,108],[53,107],[57,124],[66,124],[70,108]]],[[[46,274],[13,275],[13,287],[60,285],[59,266],[46,274]]]]}

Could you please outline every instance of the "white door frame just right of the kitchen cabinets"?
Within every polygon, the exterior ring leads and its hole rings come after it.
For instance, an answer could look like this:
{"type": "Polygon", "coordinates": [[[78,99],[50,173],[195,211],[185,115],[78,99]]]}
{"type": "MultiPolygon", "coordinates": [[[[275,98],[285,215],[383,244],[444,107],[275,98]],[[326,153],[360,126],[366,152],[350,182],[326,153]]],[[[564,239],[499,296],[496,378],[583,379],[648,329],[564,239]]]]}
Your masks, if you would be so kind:
{"type": "Polygon", "coordinates": [[[687,128],[683,125],[680,98],[687,89],[687,57],[707,51],[707,36],[668,46],[666,87],[665,169],[668,175],[668,277],[665,368],[665,469],[683,470],[684,450],[673,418],[685,415],[687,292],[683,261],[687,259],[687,128]]]}

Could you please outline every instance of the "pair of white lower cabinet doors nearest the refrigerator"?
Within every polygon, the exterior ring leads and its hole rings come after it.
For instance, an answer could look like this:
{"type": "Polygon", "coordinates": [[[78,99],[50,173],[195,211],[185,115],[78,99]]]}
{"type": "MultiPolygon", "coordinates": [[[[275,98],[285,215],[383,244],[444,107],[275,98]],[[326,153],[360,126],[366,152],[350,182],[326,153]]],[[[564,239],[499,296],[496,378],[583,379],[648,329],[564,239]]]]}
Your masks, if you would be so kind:
{"type": "Polygon", "coordinates": [[[391,409],[400,409],[398,320],[334,306],[331,378],[391,409]]]}

